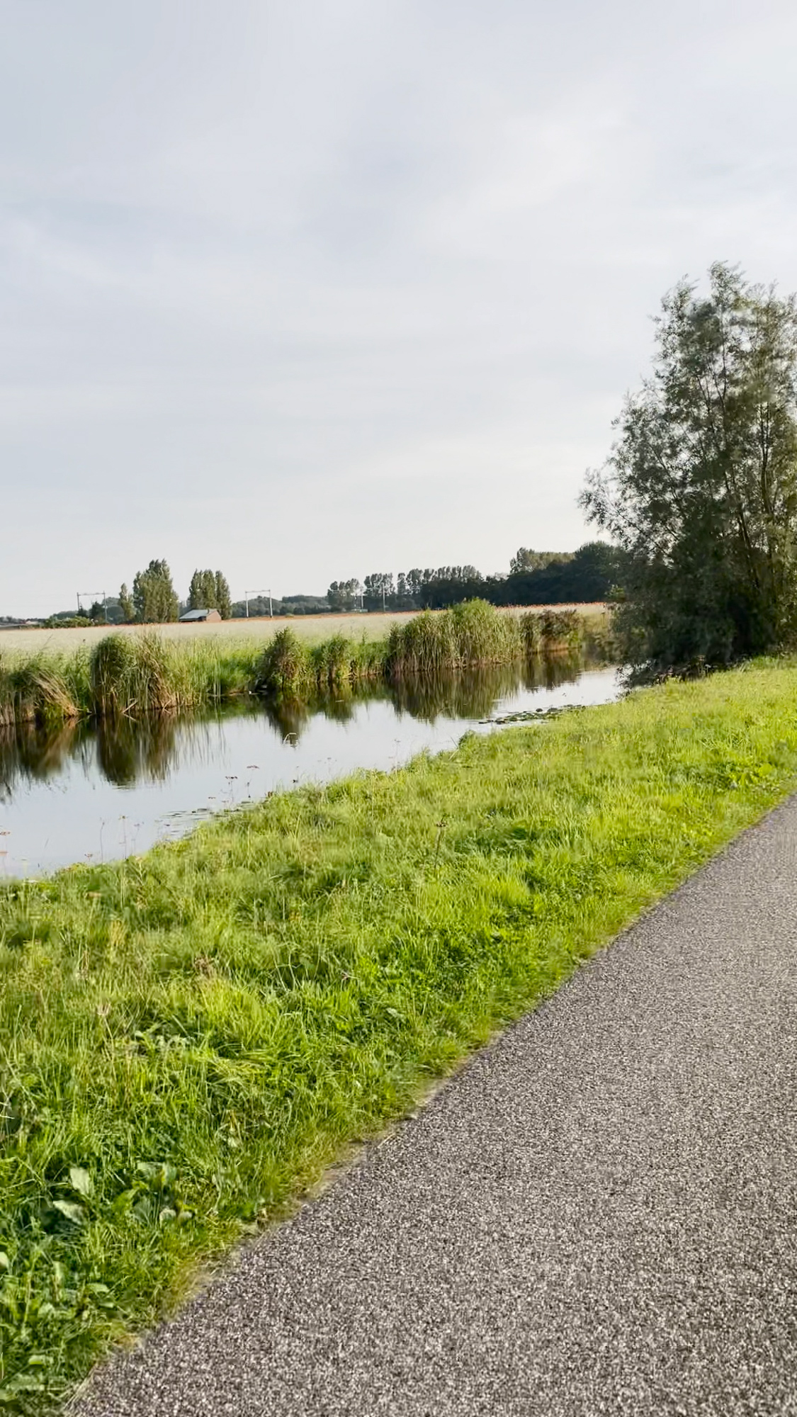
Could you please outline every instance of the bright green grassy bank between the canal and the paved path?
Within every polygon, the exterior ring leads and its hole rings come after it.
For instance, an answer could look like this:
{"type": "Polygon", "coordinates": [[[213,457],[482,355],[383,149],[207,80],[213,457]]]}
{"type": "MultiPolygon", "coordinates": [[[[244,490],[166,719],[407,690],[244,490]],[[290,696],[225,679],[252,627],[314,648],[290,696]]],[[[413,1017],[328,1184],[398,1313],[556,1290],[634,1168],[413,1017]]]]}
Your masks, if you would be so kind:
{"type": "Polygon", "coordinates": [[[0,890],[0,1397],[197,1264],[797,784],[797,667],[467,737],[0,890]]]}

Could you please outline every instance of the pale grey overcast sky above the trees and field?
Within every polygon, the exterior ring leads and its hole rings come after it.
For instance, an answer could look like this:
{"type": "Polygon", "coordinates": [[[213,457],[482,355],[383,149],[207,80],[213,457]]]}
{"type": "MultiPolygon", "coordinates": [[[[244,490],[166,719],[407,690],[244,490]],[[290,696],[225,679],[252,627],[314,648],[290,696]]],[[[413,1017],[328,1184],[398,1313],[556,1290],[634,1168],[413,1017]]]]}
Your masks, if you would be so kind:
{"type": "Polygon", "coordinates": [[[796,135],[793,0],[3,0],[0,614],[576,547],[796,135]]]}

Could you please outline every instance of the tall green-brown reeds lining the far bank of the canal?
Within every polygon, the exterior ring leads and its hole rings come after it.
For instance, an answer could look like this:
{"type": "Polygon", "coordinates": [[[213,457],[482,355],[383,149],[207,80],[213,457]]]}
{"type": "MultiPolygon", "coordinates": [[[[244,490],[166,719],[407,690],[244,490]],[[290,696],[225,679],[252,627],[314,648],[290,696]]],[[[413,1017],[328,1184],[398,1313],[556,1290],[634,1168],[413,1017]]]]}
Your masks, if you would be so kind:
{"type": "Polygon", "coordinates": [[[180,643],[155,631],[113,632],[69,656],[0,656],[0,727],[143,717],[245,694],[299,699],[369,680],[396,682],[572,652],[589,638],[589,623],[577,611],[512,614],[484,601],[424,611],[393,623],[383,639],[336,632],[312,643],[286,625],[265,649],[257,640],[180,643]]]}

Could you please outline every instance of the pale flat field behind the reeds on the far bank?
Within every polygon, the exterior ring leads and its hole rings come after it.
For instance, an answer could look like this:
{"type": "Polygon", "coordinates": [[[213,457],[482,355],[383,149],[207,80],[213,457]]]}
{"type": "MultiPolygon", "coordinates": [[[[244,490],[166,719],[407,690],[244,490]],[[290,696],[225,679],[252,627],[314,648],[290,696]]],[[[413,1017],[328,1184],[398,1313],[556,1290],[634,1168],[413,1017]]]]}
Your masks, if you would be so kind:
{"type": "MultiPolygon", "coordinates": [[[[530,605],[528,609],[539,611],[580,611],[584,615],[596,615],[606,609],[597,601],[590,605],[530,605]]],[[[288,615],[274,619],[250,618],[220,621],[216,625],[96,625],[88,629],[6,629],[0,631],[0,655],[3,650],[38,653],[38,650],[58,650],[68,653],[79,649],[81,645],[95,645],[112,631],[122,635],[140,635],[157,631],[166,639],[176,639],[190,643],[193,640],[220,639],[224,645],[234,640],[248,642],[268,640],[284,625],[302,639],[318,643],[332,635],[346,635],[349,639],[383,639],[390,626],[396,622],[411,619],[417,611],[396,611],[386,615],[288,615]]],[[[440,614],[440,612],[433,612],[440,614]]]]}

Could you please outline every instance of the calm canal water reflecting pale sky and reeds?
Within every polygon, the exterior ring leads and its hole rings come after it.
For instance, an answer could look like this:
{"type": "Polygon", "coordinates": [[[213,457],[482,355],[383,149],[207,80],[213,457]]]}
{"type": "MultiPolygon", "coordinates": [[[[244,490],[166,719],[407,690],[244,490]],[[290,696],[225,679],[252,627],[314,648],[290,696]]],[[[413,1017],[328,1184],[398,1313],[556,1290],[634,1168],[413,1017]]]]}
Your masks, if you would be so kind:
{"type": "Polygon", "coordinates": [[[112,860],[268,792],[390,769],[512,714],[618,697],[614,669],[552,659],[213,717],[0,730],[0,877],[112,860]]]}

